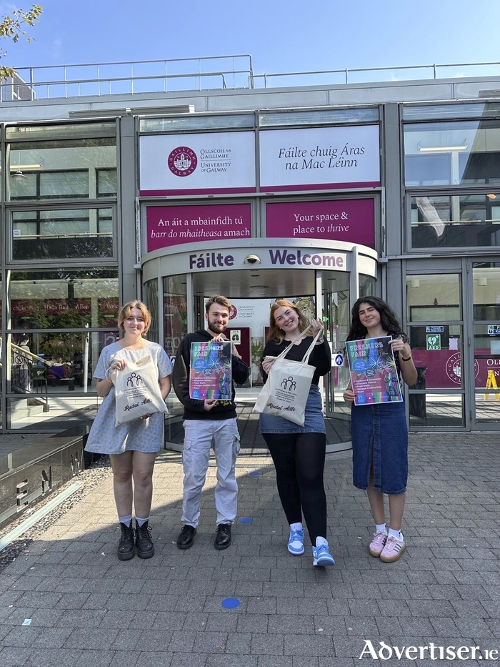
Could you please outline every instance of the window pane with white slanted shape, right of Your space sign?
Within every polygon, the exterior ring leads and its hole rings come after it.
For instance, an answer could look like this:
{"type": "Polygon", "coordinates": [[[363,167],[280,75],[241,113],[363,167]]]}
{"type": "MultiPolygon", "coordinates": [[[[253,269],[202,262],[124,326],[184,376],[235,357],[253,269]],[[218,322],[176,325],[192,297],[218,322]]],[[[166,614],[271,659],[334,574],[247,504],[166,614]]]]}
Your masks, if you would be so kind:
{"type": "Polygon", "coordinates": [[[497,247],[495,200],[487,194],[411,197],[411,247],[497,247]]]}

